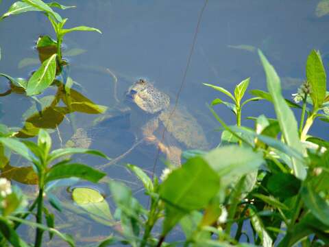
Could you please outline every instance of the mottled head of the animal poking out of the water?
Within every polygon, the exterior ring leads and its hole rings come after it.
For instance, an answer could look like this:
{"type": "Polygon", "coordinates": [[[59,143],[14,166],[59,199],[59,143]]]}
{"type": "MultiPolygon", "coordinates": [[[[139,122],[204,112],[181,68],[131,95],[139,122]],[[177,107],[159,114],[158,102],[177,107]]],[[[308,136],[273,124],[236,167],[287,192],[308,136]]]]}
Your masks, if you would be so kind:
{"type": "Polygon", "coordinates": [[[128,89],[125,99],[145,113],[158,113],[169,106],[169,96],[156,89],[145,79],[138,79],[128,89]]]}

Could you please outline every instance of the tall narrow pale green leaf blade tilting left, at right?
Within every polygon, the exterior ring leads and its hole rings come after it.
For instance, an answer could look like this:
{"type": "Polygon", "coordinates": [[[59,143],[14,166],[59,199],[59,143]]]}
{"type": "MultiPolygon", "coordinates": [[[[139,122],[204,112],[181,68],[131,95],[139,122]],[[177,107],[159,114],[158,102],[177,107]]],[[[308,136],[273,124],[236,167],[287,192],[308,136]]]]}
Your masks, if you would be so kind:
{"type": "MultiPolygon", "coordinates": [[[[262,51],[258,50],[258,54],[265,70],[267,89],[273,99],[274,109],[276,110],[276,116],[278,117],[284,139],[291,148],[294,148],[297,152],[303,154],[305,150],[300,142],[300,137],[297,132],[297,121],[293,115],[293,111],[284,101],[284,97],[282,97],[280,78],[273,66],[267,61],[262,51]]],[[[306,168],[304,167],[304,164],[295,158],[292,158],[292,162],[295,176],[304,179],[306,177],[306,168]]]]}

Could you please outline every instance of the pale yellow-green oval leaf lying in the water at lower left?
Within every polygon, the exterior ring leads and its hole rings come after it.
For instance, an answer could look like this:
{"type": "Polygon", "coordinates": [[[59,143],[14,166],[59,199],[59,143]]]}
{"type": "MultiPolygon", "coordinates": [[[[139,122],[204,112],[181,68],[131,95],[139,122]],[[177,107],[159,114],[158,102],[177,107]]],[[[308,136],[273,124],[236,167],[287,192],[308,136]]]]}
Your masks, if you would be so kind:
{"type": "Polygon", "coordinates": [[[113,224],[113,217],[108,202],[106,202],[99,191],[90,188],[75,188],[72,191],[72,198],[93,219],[98,220],[100,218],[102,219],[101,222],[108,226],[113,224]]]}

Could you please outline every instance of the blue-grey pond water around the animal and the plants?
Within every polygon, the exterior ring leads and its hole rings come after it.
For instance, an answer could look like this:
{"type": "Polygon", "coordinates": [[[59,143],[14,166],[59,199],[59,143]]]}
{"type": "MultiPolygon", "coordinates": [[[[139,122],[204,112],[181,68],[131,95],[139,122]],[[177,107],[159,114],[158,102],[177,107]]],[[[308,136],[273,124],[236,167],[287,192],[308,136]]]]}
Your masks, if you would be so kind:
{"type": "MultiPolygon", "coordinates": [[[[175,98],[182,82],[184,69],[191,49],[197,17],[204,5],[199,0],[167,1],[59,1],[65,5],[77,5],[77,9],[59,11],[68,16],[67,27],[88,25],[99,28],[103,34],[94,32],[74,32],[65,39],[66,51],[84,49],[79,56],[67,57],[71,64],[70,76],[81,86],[76,90],[97,104],[111,108],[115,104],[113,79],[103,71],[113,71],[119,78],[117,97],[122,99],[124,92],[136,78],[148,78],[165,93],[175,98]]],[[[8,10],[14,1],[4,1],[1,13],[8,10]]],[[[202,82],[218,84],[232,91],[235,84],[251,77],[249,89],[266,90],[263,67],[255,52],[247,51],[241,45],[258,47],[263,50],[269,61],[282,78],[305,78],[306,58],[311,49],[319,49],[324,55],[324,65],[328,63],[329,16],[318,18],[315,15],[317,1],[215,1],[210,0],[200,25],[197,43],[193,52],[191,66],[188,68],[186,84],[180,95],[179,104],[188,108],[204,128],[212,147],[219,141],[219,125],[210,114],[206,103],[219,93],[202,85],[202,82]]],[[[51,34],[51,25],[45,16],[28,12],[10,16],[0,23],[0,47],[2,60],[1,73],[13,77],[27,78],[38,65],[22,67],[23,58],[38,58],[33,49],[36,38],[51,34]],[[19,67],[19,63],[21,66],[19,67]]],[[[247,47],[250,48],[250,47],[247,47]]],[[[26,60],[25,60],[26,61],[26,60]]],[[[0,78],[1,92],[7,89],[5,80],[0,78]]],[[[299,85],[282,80],[284,95],[290,98],[299,85]]],[[[51,95],[51,89],[45,95],[51,95]]],[[[249,97],[249,96],[248,96],[249,97]]],[[[32,102],[24,95],[12,93],[0,99],[1,122],[8,126],[23,126],[22,115],[32,102]]],[[[234,124],[234,117],[224,106],[216,106],[217,113],[228,124],[234,124]]],[[[274,117],[273,107],[267,102],[255,102],[243,109],[243,118],[265,113],[274,117]]],[[[77,127],[88,128],[97,115],[75,114],[77,127]]],[[[253,122],[243,119],[243,124],[252,126],[253,122]]],[[[59,127],[63,141],[72,133],[68,121],[59,127]]],[[[109,156],[117,156],[134,143],[132,134],[125,138],[110,135],[94,141],[95,148],[109,156]]],[[[319,121],[310,131],[315,136],[328,137],[329,130],[319,121]]],[[[60,146],[57,132],[52,134],[54,146],[60,146]]],[[[121,132],[122,133],[122,132],[121,132]]],[[[134,163],[151,170],[156,148],[142,145],[125,156],[120,163],[134,163]]],[[[82,156],[89,165],[103,163],[99,158],[82,156]]],[[[158,163],[158,173],[164,167],[158,163]]],[[[136,178],[118,165],[106,169],[110,178],[127,181],[143,198],[141,185],[136,178]]],[[[110,199],[109,199],[110,201],[110,199]]],[[[65,216],[68,217],[68,216],[65,216]]],[[[93,228],[88,221],[88,227],[93,228]]],[[[99,232],[107,234],[107,228],[96,224],[99,232]]],[[[79,234],[84,235],[84,228],[79,234]]],[[[74,231],[77,231],[76,229],[74,231]]],[[[91,234],[92,231],[88,232],[91,234]]],[[[77,234],[77,235],[79,235],[77,234]]],[[[95,235],[95,234],[94,234],[95,235]]]]}

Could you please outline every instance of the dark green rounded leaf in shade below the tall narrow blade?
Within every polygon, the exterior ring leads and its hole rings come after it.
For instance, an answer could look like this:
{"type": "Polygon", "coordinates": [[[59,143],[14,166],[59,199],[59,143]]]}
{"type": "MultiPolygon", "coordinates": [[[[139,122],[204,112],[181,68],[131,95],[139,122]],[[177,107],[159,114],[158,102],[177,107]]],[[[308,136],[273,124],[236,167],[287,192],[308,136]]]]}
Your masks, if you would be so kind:
{"type": "Polygon", "coordinates": [[[301,181],[292,174],[280,172],[269,177],[266,187],[273,196],[284,200],[297,195],[300,185],[301,181]]]}

